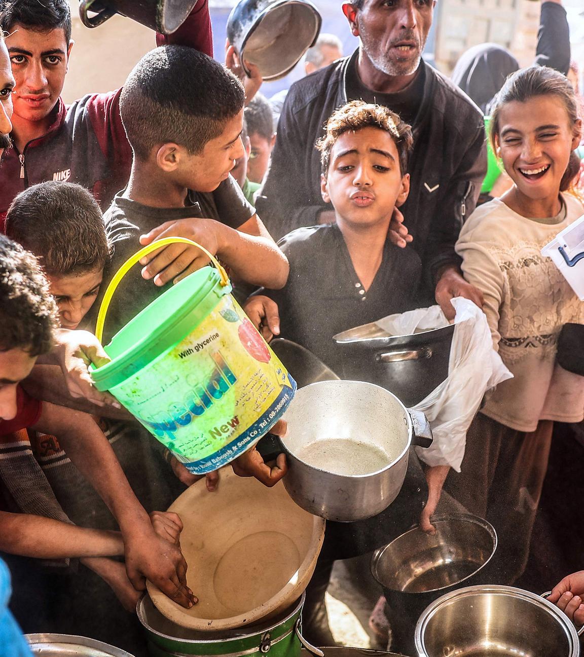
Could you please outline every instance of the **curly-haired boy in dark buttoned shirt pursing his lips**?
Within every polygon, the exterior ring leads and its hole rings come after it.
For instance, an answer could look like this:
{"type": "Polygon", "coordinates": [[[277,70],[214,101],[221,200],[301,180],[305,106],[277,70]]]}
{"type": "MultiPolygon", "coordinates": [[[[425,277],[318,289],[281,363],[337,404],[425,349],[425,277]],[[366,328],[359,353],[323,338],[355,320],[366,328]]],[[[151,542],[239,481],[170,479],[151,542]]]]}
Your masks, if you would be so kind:
{"type": "Polygon", "coordinates": [[[266,339],[280,335],[313,351],[338,374],[334,334],[409,308],[420,258],[388,239],[393,208],[409,193],[409,125],[380,105],[353,101],[336,110],[317,144],[321,193],[336,223],[300,228],[279,242],[290,261],[282,290],[246,304],[266,339]]]}

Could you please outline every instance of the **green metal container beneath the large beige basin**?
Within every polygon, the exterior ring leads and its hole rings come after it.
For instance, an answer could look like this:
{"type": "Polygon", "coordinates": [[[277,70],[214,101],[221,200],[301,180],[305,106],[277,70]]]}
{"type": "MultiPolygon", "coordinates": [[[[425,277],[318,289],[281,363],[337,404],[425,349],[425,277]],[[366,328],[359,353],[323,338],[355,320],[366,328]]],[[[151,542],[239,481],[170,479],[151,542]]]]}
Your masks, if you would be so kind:
{"type": "Polygon", "coordinates": [[[273,657],[300,657],[302,646],[323,657],[321,650],[302,637],[300,612],[303,604],[304,594],[292,607],[269,622],[216,633],[198,632],[176,625],[162,616],[148,595],[139,600],[136,612],[146,630],[148,652],[152,657],[259,657],[268,653],[273,657]]]}

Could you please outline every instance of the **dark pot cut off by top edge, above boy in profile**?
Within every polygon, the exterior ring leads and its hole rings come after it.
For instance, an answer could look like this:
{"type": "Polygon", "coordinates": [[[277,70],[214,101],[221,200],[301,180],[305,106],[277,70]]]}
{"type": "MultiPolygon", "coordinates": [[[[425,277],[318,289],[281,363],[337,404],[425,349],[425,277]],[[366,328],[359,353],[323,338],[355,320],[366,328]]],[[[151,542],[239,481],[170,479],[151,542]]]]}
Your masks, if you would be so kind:
{"type": "Polygon", "coordinates": [[[81,0],[79,16],[87,28],[97,28],[114,14],[122,14],[151,30],[171,34],[185,22],[194,5],[196,0],[81,0]]]}

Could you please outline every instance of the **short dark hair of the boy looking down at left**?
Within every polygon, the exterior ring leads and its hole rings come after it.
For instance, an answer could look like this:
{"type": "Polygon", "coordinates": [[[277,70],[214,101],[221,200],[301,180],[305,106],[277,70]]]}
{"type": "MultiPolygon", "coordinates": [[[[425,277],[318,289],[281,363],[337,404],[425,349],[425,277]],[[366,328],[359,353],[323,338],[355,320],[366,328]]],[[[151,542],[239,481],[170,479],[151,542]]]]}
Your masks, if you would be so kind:
{"type": "Polygon", "coordinates": [[[6,234],[39,258],[50,276],[102,269],[110,245],[97,201],[76,183],[47,181],[14,198],[6,234]]]}

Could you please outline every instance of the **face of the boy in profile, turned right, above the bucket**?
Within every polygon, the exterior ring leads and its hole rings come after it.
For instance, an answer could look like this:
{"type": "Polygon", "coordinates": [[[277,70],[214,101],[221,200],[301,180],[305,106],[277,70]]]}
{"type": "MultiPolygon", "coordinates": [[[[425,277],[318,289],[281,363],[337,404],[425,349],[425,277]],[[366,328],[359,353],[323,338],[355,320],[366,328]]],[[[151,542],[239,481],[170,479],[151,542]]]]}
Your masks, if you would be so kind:
{"type": "Polygon", "coordinates": [[[242,127],[243,108],[226,122],[219,137],[205,144],[202,152],[191,155],[183,149],[181,164],[175,169],[177,182],[197,192],[217,189],[233,170],[236,160],[244,155],[242,127]]]}

